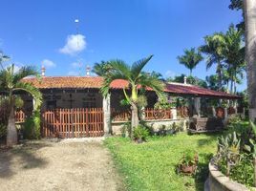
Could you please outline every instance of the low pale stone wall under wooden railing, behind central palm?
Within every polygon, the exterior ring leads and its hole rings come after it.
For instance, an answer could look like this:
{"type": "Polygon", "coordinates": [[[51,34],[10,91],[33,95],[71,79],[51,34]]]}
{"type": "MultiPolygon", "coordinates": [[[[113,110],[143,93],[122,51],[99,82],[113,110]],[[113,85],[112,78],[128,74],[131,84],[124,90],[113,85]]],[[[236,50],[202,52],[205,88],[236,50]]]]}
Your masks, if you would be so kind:
{"type": "MultiPolygon", "coordinates": [[[[173,123],[181,125],[181,128],[185,131],[188,126],[189,118],[178,118],[178,119],[158,119],[158,120],[145,120],[146,124],[152,127],[155,131],[158,131],[164,125],[166,129],[170,129],[173,123]]],[[[121,134],[121,128],[127,121],[113,121],[112,132],[114,135],[121,134]]]]}

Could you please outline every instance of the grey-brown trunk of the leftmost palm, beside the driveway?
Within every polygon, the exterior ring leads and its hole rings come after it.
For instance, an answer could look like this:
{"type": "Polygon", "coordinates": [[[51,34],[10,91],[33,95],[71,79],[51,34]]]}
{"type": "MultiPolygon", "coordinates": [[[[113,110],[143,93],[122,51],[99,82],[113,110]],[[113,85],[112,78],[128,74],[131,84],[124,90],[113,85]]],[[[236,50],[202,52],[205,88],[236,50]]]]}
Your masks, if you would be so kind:
{"type": "Polygon", "coordinates": [[[18,142],[17,130],[15,127],[14,107],[11,104],[10,115],[7,126],[7,146],[11,147],[18,142]]]}

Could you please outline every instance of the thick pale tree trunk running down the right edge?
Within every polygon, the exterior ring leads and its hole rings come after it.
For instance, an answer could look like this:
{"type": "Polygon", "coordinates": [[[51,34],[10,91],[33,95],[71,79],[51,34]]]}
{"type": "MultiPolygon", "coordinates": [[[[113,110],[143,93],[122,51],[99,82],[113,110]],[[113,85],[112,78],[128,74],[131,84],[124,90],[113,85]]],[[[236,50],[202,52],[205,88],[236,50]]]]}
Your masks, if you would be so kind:
{"type": "Polygon", "coordinates": [[[247,90],[249,118],[256,118],[256,1],[245,0],[245,58],[247,63],[247,90]]]}

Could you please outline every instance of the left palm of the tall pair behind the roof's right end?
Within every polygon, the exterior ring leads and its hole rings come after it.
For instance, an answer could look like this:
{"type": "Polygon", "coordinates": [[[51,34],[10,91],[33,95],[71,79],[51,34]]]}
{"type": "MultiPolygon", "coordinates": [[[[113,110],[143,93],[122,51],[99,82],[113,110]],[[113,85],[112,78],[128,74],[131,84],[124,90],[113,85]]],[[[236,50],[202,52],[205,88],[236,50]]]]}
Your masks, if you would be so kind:
{"type": "Polygon", "coordinates": [[[218,89],[221,91],[223,86],[224,34],[222,32],[216,32],[213,35],[205,36],[204,45],[200,47],[200,51],[207,56],[207,70],[211,68],[213,64],[217,64],[216,73],[218,74],[218,89]]]}

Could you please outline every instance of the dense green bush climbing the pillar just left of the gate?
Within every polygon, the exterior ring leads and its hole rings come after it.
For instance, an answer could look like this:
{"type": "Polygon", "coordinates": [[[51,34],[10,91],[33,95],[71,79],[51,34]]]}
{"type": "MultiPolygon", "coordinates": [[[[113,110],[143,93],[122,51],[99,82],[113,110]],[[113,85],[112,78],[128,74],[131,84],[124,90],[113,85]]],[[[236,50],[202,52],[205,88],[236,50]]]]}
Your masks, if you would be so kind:
{"type": "Polygon", "coordinates": [[[24,123],[23,136],[27,139],[40,138],[40,111],[34,111],[32,117],[27,117],[24,123]]]}

